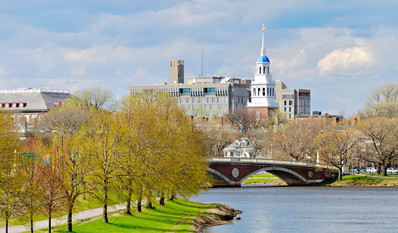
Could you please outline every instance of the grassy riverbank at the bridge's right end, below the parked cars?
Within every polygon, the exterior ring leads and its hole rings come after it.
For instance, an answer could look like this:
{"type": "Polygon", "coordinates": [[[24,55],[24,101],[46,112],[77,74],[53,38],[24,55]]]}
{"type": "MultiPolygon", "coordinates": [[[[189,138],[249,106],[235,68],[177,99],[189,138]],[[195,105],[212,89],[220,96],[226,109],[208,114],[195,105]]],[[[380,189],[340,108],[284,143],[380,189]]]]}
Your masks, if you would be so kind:
{"type": "Polygon", "coordinates": [[[328,180],[323,184],[328,186],[398,186],[398,180],[377,176],[347,175],[340,181],[328,180]]]}

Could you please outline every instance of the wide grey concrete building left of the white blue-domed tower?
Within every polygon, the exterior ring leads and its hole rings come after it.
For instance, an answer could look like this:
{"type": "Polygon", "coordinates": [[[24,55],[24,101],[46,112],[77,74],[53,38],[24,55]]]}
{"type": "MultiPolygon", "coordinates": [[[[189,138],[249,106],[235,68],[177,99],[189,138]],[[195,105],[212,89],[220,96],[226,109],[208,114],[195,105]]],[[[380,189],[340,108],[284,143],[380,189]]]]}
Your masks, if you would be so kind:
{"type": "MultiPolygon", "coordinates": [[[[179,62],[181,64],[181,60],[179,62]]],[[[193,117],[221,117],[233,112],[236,108],[246,107],[247,88],[251,80],[226,77],[192,77],[187,79],[187,84],[183,84],[181,83],[183,82],[180,79],[181,76],[183,77],[183,73],[170,71],[170,81],[179,80],[178,82],[129,86],[129,93],[167,92],[170,96],[176,98],[176,102],[185,110],[185,114],[193,117]]]]}

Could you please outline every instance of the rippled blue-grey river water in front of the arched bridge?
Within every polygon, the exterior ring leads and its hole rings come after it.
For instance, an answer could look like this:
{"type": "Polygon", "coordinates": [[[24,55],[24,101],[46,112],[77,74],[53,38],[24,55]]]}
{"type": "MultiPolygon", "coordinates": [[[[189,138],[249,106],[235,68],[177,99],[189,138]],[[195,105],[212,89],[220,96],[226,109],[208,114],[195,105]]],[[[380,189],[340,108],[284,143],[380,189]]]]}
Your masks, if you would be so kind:
{"type": "Polygon", "coordinates": [[[204,232],[398,232],[398,187],[211,188],[195,202],[242,210],[241,220],[204,232]]]}

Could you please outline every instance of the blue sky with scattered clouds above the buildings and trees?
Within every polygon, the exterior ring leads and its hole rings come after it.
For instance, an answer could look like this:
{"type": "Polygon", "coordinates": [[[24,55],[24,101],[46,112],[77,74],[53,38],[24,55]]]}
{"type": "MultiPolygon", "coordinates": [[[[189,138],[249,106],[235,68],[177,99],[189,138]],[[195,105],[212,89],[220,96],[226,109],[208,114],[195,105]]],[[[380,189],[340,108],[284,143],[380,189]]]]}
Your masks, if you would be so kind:
{"type": "Polygon", "coordinates": [[[398,80],[397,1],[1,1],[0,88],[81,90],[197,76],[251,78],[265,48],[275,80],[311,89],[311,110],[347,116],[398,80]]]}

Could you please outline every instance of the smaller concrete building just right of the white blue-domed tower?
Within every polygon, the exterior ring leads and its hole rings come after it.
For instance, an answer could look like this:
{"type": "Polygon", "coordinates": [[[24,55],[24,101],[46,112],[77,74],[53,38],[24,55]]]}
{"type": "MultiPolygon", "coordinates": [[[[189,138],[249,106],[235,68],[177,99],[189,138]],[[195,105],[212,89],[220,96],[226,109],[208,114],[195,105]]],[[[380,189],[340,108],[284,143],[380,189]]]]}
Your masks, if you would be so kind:
{"type": "Polygon", "coordinates": [[[288,119],[295,119],[297,115],[311,115],[310,98],[311,90],[288,89],[282,81],[276,81],[276,102],[288,119]]]}

